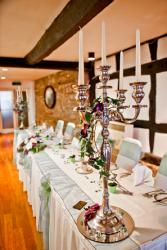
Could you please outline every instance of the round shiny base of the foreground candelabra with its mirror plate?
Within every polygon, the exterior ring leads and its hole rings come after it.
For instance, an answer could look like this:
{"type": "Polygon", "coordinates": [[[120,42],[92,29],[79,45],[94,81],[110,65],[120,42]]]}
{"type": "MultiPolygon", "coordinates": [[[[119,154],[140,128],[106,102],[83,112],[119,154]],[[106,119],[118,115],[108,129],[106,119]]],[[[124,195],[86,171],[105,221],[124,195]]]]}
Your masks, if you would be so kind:
{"type": "Polygon", "coordinates": [[[111,213],[104,215],[101,207],[87,225],[84,223],[84,214],[85,211],[79,215],[77,227],[89,240],[113,243],[126,239],[133,232],[134,221],[122,208],[112,206],[111,213]]]}

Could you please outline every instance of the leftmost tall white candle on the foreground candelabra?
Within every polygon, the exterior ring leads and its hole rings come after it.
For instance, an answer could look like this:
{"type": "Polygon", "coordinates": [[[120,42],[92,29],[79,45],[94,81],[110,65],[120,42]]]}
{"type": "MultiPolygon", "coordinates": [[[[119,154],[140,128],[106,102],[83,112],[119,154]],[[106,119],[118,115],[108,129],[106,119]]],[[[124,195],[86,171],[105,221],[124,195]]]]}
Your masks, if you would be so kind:
{"type": "Polygon", "coordinates": [[[78,85],[84,84],[83,31],[79,31],[79,70],[78,85]]]}

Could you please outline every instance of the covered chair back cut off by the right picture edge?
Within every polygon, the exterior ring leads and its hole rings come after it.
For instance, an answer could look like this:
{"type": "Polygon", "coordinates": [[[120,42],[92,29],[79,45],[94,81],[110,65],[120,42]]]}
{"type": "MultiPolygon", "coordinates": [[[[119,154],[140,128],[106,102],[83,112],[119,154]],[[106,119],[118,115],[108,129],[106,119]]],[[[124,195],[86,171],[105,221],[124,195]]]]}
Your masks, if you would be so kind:
{"type": "Polygon", "coordinates": [[[167,153],[162,157],[158,173],[155,177],[155,186],[167,191],[167,153]]]}

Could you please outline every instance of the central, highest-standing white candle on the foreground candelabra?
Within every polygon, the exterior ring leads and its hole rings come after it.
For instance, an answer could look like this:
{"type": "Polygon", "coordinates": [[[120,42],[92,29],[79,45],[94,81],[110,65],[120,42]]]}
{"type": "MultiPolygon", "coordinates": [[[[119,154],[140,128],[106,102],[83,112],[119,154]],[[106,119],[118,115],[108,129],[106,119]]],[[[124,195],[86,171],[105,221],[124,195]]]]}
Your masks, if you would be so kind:
{"type": "Polygon", "coordinates": [[[101,65],[107,65],[106,59],[106,25],[102,22],[102,32],[101,32],[101,65]]]}

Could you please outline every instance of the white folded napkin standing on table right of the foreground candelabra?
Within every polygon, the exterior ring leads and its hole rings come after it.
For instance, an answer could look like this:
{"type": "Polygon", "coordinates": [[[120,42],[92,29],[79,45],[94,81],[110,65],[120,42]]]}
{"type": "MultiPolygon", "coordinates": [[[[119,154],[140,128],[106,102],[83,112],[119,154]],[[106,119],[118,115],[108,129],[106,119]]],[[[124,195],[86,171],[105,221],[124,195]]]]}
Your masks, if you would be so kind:
{"type": "Polygon", "coordinates": [[[154,186],[154,178],[152,176],[152,171],[148,167],[138,163],[134,169],[134,186],[138,186],[141,184],[146,184],[147,186],[154,186]]]}

